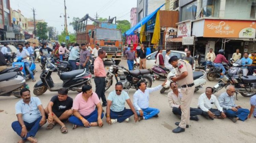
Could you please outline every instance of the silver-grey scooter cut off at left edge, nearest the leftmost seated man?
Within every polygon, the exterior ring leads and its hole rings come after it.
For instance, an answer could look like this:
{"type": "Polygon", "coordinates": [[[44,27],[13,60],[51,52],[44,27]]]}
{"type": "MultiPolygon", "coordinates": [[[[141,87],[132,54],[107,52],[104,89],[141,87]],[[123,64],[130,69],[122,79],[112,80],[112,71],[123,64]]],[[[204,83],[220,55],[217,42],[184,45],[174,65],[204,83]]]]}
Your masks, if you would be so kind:
{"type": "Polygon", "coordinates": [[[0,96],[20,97],[20,89],[26,86],[26,80],[17,72],[8,72],[0,76],[0,96]]]}

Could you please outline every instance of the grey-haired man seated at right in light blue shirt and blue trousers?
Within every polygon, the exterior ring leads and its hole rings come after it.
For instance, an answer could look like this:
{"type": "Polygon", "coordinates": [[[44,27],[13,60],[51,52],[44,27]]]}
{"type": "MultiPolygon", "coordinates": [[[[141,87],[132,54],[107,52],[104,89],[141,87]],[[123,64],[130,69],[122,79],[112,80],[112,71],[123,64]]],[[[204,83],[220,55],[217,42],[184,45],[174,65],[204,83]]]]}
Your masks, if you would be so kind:
{"type": "Polygon", "coordinates": [[[237,120],[245,121],[248,117],[249,110],[243,109],[241,106],[237,106],[234,103],[234,93],[236,89],[234,86],[229,85],[227,86],[226,92],[222,93],[219,96],[219,105],[226,110],[227,117],[232,120],[232,122],[237,122],[237,120]]]}

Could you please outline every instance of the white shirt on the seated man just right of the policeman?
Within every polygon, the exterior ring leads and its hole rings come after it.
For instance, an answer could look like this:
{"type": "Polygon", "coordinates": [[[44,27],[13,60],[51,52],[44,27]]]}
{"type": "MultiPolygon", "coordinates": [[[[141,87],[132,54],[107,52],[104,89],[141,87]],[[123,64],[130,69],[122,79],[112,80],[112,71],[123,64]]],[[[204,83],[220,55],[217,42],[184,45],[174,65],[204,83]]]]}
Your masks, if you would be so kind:
{"type": "Polygon", "coordinates": [[[212,94],[210,100],[208,99],[205,93],[199,96],[198,107],[203,111],[208,112],[213,105],[215,105],[219,111],[223,112],[223,108],[219,105],[219,102],[215,95],[212,94]]]}

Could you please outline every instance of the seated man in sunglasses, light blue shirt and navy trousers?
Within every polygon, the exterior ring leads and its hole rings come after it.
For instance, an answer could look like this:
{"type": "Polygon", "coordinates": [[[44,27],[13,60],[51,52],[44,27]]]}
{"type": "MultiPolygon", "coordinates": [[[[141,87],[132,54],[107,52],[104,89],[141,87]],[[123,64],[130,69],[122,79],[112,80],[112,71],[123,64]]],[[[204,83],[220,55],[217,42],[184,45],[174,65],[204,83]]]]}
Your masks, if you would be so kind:
{"type": "Polygon", "coordinates": [[[123,84],[116,83],[115,91],[109,93],[106,107],[106,122],[115,124],[116,122],[129,122],[129,117],[134,114],[134,121],[137,122],[138,115],[134,109],[127,92],[123,91],[123,84]],[[130,109],[125,108],[125,102],[130,109]]]}

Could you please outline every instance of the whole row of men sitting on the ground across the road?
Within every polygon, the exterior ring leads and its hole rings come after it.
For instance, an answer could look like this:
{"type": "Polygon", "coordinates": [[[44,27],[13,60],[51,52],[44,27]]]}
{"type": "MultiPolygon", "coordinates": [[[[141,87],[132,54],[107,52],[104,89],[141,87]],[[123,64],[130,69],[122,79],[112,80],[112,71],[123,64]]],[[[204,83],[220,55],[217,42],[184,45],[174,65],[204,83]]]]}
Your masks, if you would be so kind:
{"type": "MultiPolygon", "coordinates": [[[[123,90],[122,83],[116,83],[115,90],[110,92],[106,106],[106,122],[116,124],[117,122],[129,122],[129,117],[134,114],[134,121],[148,120],[153,117],[157,118],[159,109],[149,107],[149,94],[160,90],[166,82],[154,88],[147,88],[143,81],[138,82],[138,90],[133,95],[133,104],[127,92],[123,90]],[[125,102],[130,109],[125,108],[125,102]]],[[[168,93],[168,102],[172,112],[181,116],[182,94],[175,82],[170,83],[172,91],[168,93]]],[[[218,100],[212,94],[213,89],[207,87],[205,93],[201,94],[198,101],[198,108],[190,108],[190,120],[198,121],[197,115],[203,115],[207,119],[224,119],[230,118],[233,122],[237,120],[245,121],[250,118],[255,108],[251,108],[250,115],[248,109],[243,109],[234,103],[233,94],[235,89],[228,86],[226,92],[222,93],[218,100]],[[213,105],[217,109],[213,109],[213,105]]],[[[67,89],[60,89],[58,95],[52,97],[47,107],[44,109],[38,97],[31,97],[29,89],[20,91],[22,100],[15,105],[18,121],[12,123],[13,130],[22,138],[19,143],[27,140],[37,142],[34,138],[37,131],[46,123],[46,129],[53,129],[56,124],[60,125],[61,133],[67,133],[65,121],[73,124],[73,129],[84,126],[103,126],[102,118],[104,116],[102,105],[99,97],[90,85],[82,87],[82,92],[77,94],[74,101],[68,96],[67,89]],[[29,130],[29,131],[28,131],[29,130]]],[[[256,104],[256,95],[254,97],[256,104]]],[[[254,112],[256,117],[256,112],[254,112]]],[[[179,125],[179,122],[175,123],[179,125]]],[[[189,125],[186,125],[188,128],[189,125]]]]}

